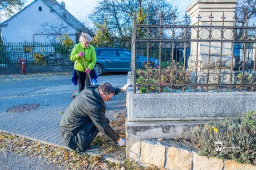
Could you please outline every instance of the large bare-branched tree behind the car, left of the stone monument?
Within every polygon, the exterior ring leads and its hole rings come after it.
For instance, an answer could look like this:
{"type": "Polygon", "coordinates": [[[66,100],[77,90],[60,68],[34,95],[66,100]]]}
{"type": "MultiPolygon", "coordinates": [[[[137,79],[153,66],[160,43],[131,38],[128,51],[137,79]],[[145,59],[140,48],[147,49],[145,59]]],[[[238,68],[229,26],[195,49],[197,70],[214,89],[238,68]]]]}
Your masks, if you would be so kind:
{"type": "MultiPolygon", "coordinates": [[[[162,11],[163,21],[168,24],[171,13],[176,9],[166,0],[103,0],[89,17],[95,24],[102,24],[106,19],[111,36],[119,38],[124,44],[130,41],[134,17],[137,17],[137,24],[159,24],[159,12],[162,11]]],[[[141,31],[141,35],[145,35],[145,30],[141,31]]]]}

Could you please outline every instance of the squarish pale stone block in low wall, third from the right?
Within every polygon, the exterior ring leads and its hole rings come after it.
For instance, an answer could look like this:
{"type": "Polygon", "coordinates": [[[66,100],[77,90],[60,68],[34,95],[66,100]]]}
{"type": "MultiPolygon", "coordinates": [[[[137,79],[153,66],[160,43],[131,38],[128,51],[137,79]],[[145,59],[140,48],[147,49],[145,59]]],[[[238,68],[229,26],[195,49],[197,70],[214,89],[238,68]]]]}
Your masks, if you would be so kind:
{"type": "Polygon", "coordinates": [[[193,152],[177,147],[169,147],[166,152],[165,168],[192,169],[193,152]]]}

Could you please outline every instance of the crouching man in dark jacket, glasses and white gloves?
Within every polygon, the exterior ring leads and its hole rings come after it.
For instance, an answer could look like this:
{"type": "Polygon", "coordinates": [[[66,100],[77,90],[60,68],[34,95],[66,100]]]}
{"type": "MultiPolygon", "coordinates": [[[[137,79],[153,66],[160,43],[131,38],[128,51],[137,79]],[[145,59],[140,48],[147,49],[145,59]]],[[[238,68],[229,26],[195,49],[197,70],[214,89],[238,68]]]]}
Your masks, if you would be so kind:
{"type": "Polygon", "coordinates": [[[105,117],[105,101],[127,89],[127,86],[114,88],[109,83],[88,86],[71,102],[60,122],[61,134],[67,146],[78,153],[85,152],[100,131],[107,138],[125,146],[125,140],[109,125],[105,117]]]}

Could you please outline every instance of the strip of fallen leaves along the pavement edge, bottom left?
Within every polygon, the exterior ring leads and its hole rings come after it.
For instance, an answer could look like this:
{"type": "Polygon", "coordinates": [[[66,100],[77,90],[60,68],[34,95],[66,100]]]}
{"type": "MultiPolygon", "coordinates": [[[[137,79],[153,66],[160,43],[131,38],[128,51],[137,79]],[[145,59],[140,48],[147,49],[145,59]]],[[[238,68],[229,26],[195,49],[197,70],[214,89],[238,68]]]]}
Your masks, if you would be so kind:
{"type": "Polygon", "coordinates": [[[123,164],[105,161],[100,156],[78,154],[74,151],[52,145],[44,145],[24,137],[0,132],[0,152],[8,154],[12,151],[21,156],[45,159],[45,163],[53,163],[57,168],[67,169],[152,169],[139,166],[134,161],[125,159],[123,164]]]}

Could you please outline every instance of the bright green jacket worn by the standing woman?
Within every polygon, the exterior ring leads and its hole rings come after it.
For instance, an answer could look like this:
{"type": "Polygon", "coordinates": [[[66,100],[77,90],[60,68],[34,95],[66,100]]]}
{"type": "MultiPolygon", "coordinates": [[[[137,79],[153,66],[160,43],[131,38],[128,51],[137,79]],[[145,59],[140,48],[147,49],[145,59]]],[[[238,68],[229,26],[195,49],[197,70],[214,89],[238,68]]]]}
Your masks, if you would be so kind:
{"type": "Polygon", "coordinates": [[[96,59],[95,49],[91,44],[89,45],[88,48],[83,48],[83,45],[81,43],[78,43],[75,45],[70,55],[70,60],[75,61],[74,68],[78,71],[86,70],[83,64],[83,59],[80,56],[78,56],[78,53],[80,51],[85,53],[84,58],[85,58],[86,67],[92,70],[94,68],[94,65],[97,59],[96,59]]]}

